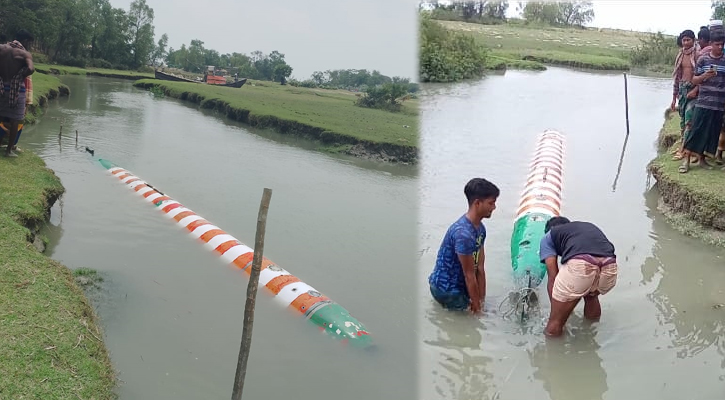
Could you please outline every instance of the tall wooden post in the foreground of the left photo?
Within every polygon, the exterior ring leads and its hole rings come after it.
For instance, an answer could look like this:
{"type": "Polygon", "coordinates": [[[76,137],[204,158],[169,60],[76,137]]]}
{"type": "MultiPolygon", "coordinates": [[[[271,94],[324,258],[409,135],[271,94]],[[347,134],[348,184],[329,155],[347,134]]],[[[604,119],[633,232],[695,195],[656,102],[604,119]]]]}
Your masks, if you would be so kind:
{"type": "Polygon", "coordinates": [[[264,250],[264,233],[267,226],[267,210],[269,201],[272,198],[272,189],[264,188],[262,203],[259,206],[257,217],[257,236],[254,241],[254,258],[252,259],[252,272],[249,276],[247,286],[247,303],[244,306],[244,325],[242,328],[242,344],[239,349],[237,360],[237,373],[234,376],[234,389],[232,400],[241,400],[244,389],[244,377],[247,375],[247,360],[249,350],[252,346],[252,325],[254,324],[254,305],[257,298],[257,286],[259,285],[259,271],[262,269],[262,252],[264,250]]]}

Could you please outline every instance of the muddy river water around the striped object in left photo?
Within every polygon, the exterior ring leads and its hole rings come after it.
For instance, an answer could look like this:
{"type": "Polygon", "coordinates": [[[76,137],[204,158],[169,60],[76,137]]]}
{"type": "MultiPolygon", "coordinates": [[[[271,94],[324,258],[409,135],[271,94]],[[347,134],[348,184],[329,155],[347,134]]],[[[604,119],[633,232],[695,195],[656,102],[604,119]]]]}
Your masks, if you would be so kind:
{"type": "Polygon", "coordinates": [[[373,353],[344,348],[260,290],[245,398],[415,398],[414,168],[311,151],[129,82],[63,80],[71,97],[52,102],[21,144],[67,189],[52,210],[48,254],[104,278],[93,298],[121,399],[229,398],[248,281],[109,177],[98,158],[250,246],[262,189],[272,188],[264,255],[348,309],[376,340],[373,353]]]}

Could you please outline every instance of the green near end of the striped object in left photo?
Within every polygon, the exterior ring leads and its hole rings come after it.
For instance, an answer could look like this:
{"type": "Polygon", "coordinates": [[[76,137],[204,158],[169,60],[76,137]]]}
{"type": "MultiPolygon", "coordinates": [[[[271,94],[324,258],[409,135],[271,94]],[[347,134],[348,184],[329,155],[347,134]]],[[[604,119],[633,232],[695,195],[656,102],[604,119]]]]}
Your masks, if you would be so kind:
{"type": "Polygon", "coordinates": [[[337,303],[329,303],[318,310],[312,311],[310,322],[332,337],[348,340],[354,347],[367,347],[372,339],[367,330],[358,320],[337,303]]]}

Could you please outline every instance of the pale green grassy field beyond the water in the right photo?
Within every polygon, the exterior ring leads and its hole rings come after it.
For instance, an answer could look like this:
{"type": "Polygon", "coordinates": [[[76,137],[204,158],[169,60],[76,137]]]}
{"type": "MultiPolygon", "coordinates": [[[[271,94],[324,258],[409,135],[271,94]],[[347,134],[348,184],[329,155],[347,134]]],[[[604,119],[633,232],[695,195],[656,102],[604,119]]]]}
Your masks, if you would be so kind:
{"type": "MultiPolygon", "coordinates": [[[[437,21],[448,29],[472,35],[506,60],[508,68],[542,69],[543,64],[601,70],[629,70],[629,53],[646,34],[614,29],[558,28],[507,23],[483,25],[437,21]],[[520,60],[529,61],[519,64],[520,60]]],[[[652,66],[661,71],[661,66],[652,66]]]]}

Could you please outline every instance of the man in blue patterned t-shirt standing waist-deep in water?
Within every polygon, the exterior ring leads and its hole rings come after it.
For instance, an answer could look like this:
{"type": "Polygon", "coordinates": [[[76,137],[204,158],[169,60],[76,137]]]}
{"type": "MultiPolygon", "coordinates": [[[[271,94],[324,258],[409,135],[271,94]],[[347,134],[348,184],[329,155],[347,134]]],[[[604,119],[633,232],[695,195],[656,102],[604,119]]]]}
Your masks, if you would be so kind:
{"type": "Polygon", "coordinates": [[[486,227],[481,220],[496,209],[499,189],[483,179],[471,179],[463,189],[468,212],[448,228],[433,272],[428,277],[433,298],[450,310],[479,314],[486,297],[483,243],[486,227]]]}

